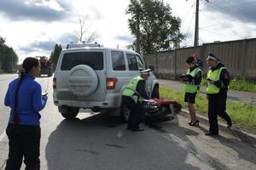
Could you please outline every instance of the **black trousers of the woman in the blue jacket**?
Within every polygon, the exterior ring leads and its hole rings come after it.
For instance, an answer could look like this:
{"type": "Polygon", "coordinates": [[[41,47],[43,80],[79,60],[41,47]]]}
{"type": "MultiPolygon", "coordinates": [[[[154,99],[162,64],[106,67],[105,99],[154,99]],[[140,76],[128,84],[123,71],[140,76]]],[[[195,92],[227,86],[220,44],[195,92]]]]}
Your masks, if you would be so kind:
{"type": "Polygon", "coordinates": [[[25,170],[39,170],[40,127],[9,124],[6,133],[9,138],[9,158],[5,170],[19,170],[23,156],[25,170]]]}

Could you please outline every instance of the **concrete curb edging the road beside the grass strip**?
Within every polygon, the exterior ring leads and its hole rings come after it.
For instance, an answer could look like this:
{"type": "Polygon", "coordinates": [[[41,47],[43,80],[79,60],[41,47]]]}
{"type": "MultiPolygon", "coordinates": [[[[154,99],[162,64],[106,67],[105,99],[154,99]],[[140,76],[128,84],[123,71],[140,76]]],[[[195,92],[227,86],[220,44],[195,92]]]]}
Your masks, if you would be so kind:
{"type": "MultiPolygon", "coordinates": [[[[181,116],[189,116],[189,111],[182,110],[181,113],[179,114],[181,116]]],[[[204,124],[208,124],[208,118],[206,116],[201,116],[197,114],[197,118],[199,119],[200,122],[204,124]]],[[[230,133],[234,135],[236,138],[241,139],[241,142],[244,142],[246,144],[249,144],[256,148],[256,135],[253,133],[247,133],[240,128],[237,127],[231,127],[228,128],[227,125],[225,125],[222,122],[218,122],[218,129],[223,131],[224,133],[230,133]]]]}

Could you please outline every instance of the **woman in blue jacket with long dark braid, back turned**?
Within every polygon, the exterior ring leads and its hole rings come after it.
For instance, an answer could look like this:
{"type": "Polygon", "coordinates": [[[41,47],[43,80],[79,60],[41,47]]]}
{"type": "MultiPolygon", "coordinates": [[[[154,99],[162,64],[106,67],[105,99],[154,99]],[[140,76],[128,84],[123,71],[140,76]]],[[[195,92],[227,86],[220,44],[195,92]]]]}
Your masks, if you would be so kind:
{"type": "Polygon", "coordinates": [[[38,59],[28,57],[23,61],[20,76],[9,83],[4,105],[11,108],[6,129],[9,138],[9,157],[5,170],[19,170],[24,156],[26,170],[40,169],[39,111],[44,109],[47,96],[35,77],[40,73],[38,59]]]}

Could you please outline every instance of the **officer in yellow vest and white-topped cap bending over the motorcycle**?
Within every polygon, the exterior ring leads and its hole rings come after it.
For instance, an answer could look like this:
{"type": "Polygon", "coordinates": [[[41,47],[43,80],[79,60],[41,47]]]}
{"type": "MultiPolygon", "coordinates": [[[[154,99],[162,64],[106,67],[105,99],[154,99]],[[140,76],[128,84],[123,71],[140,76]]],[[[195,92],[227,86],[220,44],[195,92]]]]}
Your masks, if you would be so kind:
{"type": "Polygon", "coordinates": [[[144,109],[141,101],[142,99],[149,99],[146,92],[146,80],[150,76],[150,69],[140,71],[140,73],[140,76],[131,79],[122,94],[122,102],[130,110],[127,129],[134,132],[144,130],[139,127],[144,119],[144,109]]]}

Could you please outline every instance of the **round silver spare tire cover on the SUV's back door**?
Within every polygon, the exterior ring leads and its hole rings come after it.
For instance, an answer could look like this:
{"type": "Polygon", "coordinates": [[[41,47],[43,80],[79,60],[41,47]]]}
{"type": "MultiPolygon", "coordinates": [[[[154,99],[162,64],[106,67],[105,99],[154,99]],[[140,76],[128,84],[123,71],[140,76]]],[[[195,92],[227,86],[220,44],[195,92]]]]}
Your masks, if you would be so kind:
{"type": "Polygon", "coordinates": [[[98,77],[90,66],[77,65],[70,71],[68,82],[73,94],[87,96],[96,91],[98,77]]]}

